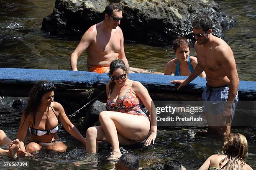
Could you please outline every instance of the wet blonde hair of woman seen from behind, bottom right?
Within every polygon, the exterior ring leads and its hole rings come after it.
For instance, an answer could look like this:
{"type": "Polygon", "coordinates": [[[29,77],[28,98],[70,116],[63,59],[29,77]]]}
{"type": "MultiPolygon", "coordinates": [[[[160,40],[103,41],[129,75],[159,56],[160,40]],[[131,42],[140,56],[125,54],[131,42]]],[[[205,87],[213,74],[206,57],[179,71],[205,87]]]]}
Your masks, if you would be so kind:
{"type": "Polygon", "coordinates": [[[246,137],[240,133],[230,133],[224,142],[223,152],[227,157],[220,161],[222,170],[242,170],[245,162],[243,159],[248,155],[248,144],[246,137]],[[228,161],[224,164],[225,161],[228,161]],[[242,165],[238,163],[242,162],[242,165]]]}

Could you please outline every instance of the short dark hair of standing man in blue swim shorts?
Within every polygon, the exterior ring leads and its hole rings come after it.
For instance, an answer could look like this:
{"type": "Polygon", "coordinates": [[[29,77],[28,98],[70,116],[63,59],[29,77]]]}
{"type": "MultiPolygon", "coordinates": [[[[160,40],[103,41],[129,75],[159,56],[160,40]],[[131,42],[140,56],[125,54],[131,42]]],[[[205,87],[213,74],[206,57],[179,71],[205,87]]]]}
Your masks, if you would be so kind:
{"type": "Polygon", "coordinates": [[[192,21],[192,27],[196,29],[202,28],[203,31],[207,31],[209,29],[212,29],[212,20],[206,15],[197,16],[192,21]]]}

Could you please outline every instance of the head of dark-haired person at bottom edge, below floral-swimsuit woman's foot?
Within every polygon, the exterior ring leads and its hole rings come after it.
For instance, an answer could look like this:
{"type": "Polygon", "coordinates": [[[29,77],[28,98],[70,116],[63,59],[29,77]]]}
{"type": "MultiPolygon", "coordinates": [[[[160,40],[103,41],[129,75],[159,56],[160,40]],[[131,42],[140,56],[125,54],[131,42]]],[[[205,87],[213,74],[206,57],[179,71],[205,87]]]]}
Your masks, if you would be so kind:
{"type": "Polygon", "coordinates": [[[138,170],[139,159],[131,153],[124,153],[115,163],[116,170],[138,170]]]}

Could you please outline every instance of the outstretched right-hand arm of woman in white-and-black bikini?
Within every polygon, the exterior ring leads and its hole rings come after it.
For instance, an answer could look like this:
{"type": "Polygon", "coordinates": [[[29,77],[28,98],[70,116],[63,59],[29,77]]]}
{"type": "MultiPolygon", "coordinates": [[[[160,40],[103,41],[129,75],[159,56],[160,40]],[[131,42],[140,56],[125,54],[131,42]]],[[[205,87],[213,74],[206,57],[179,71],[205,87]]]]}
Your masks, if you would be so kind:
{"type": "Polygon", "coordinates": [[[59,120],[60,120],[61,124],[63,125],[63,127],[67,130],[67,132],[69,132],[69,134],[71,134],[74,138],[76,138],[77,140],[82,142],[82,144],[85,146],[86,140],[84,139],[82,134],[77,130],[77,128],[74,126],[74,124],[72,124],[70,122],[62,105],[59,104],[58,102],[54,102],[53,108],[56,112],[59,113],[59,115],[58,115],[59,120]]]}

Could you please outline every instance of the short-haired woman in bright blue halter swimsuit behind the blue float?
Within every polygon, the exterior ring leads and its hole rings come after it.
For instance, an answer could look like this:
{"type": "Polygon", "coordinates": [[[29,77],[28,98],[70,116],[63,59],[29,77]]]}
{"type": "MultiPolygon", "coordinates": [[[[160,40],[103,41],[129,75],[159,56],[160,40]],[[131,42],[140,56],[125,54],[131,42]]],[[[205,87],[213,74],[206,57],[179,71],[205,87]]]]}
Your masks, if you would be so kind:
{"type": "MultiPolygon", "coordinates": [[[[197,66],[197,58],[189,56],[190,45],[184,37],[178,37],[173,41],[173,49],[177,58],[169,61],[164,70],[164,74],[174,76],[189,76],[197,66]]],[[[200,77],[205,77],[203,71],[200,77]]]]}

